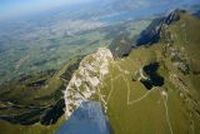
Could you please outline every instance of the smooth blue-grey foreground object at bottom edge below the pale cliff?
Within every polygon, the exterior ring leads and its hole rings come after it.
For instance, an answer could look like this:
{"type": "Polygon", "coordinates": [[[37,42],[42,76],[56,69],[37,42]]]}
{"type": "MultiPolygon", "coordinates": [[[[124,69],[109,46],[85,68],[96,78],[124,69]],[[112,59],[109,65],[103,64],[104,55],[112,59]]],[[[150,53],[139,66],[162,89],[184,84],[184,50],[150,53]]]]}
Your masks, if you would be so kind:
{"type": "Polygon", "coordinates": [[[110,134],[110,127],[100,103],[84,102],[57,134],[110,134]]]}

